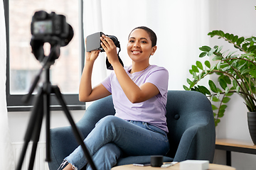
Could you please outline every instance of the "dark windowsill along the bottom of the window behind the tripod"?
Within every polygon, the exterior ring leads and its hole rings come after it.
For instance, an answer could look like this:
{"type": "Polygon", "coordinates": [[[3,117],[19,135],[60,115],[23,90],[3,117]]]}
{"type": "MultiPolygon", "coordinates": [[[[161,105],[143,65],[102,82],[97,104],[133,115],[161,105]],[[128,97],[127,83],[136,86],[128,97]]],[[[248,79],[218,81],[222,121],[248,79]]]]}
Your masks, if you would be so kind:
{"type": "MultiPolygon", "coordinates": [[[[85,105],[68,105],[69,111],[85,110],[85,105]]],[[[8,106],[8,112],[31,111],[33,106],[8,106]]],[[[63,111],[61,106],[50,106],[50,111],[63,111]]]]}

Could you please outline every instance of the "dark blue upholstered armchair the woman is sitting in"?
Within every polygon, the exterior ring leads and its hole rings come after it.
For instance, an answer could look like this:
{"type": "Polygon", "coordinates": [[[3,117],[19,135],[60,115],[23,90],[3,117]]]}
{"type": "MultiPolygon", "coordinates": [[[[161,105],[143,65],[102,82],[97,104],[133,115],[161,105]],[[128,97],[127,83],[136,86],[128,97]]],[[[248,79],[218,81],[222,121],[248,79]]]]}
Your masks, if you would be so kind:
{"type": "MultiPolygon", "coordinates": [[[[164,162],[181,162],[186,159],[213,162],[215,151],[215,125],[213,110],[206,96],[196,91],[168,91],[166,118],[169,128],[170,151],[164,162]]],[[[112,97],[92,103],[85,115],[76,123],[83,137],[95,127],[100,118],[114,115],[112,97]]],[[[73,150],[78,147],[71,127],[50,130],[50,170],[56,170],[73,150]]],[[[150,156],[122,157],[117,166],[150,163],[150,156]]]]}

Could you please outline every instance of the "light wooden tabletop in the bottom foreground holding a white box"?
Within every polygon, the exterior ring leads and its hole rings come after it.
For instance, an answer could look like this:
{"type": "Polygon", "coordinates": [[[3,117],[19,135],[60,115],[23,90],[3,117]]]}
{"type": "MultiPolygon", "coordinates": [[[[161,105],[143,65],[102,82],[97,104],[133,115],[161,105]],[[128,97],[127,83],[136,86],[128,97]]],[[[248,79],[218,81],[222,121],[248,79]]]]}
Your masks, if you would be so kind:
{"type": "MultiPolygon", "coordinates": [[[[167,169],[167,170],[179,170],[179,163],[175,164],[174,166],[170,166],[168,168],[156,168],[156,167],[151,167],[151,166],[134,166],[132,164],[129,165],[123,165],[123,166],[115,166],[112,168],[112,170],[130,170],[130,169],[137,169],[137,170],[156,170],[156,169],[167,169]]],[[[231,166],[225,166],[225,165],[219,165],[219,164],[209,164],[209,169],[208,170],[235,170],[235,168],[231,166]]]]}

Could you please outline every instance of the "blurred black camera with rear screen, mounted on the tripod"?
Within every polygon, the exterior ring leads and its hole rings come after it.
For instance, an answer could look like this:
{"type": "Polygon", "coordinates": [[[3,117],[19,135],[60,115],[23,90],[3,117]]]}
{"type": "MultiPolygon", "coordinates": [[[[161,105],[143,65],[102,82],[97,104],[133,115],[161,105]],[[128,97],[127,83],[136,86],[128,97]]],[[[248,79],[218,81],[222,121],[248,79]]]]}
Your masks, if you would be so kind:
{"type": "Polygon", "coordinates": [[[34,40],[65,46],[73,38],[74,32],[65,16],[55,12],[36,11],[32,17],[31,34],[34,40]]]}

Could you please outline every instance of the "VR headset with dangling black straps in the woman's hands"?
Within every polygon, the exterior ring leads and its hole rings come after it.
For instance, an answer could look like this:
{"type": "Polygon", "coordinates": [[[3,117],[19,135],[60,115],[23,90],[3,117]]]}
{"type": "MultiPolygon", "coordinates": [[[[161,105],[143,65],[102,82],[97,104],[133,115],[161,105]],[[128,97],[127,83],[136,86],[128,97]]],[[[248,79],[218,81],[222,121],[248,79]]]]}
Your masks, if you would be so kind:
{"type": "MultiPolygon", "coordinates": [[[[87,38],[86,38],[86,51],[87,52],[91,52],[93,50],[100,50],[100,52],[105,52],[105,50],[100,45],[100,37],[102,35],[105,35],[105,34],[102,32],[98,32],[98,33],[94,33],[92,35],[87,36],[87,38]]],[[[119,43],[118,39],[114,35],[106,35],[106,36],[111,38],[111,40],[114,42],[114,45],[119,48],[119,52],[120,52],[121,47],[120,47],[120,43],[119,43]]],[[[119,52],[117,52],[118,60],[124,67],[123,62],[122,62],[121,58],[119,57],[119,52]]],[[[111,70],[113,69],[112,65],[107,60],[107,58],[106,58],[106,66],[107,66],[107,69],[111,69],[111,70]]]]}

